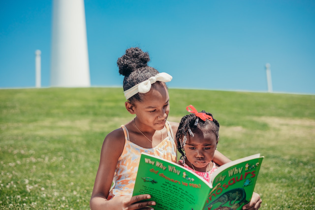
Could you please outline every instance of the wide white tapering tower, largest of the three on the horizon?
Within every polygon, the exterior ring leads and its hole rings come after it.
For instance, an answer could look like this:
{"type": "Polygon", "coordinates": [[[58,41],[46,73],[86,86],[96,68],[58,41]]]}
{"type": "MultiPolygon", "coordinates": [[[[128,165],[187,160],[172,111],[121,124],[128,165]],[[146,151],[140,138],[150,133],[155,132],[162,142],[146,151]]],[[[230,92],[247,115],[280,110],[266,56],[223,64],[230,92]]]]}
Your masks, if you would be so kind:
{"type": "Polygon", "coordinates": [[[53,0],[51,86],[89,87],[83,0],[53,0]]]}

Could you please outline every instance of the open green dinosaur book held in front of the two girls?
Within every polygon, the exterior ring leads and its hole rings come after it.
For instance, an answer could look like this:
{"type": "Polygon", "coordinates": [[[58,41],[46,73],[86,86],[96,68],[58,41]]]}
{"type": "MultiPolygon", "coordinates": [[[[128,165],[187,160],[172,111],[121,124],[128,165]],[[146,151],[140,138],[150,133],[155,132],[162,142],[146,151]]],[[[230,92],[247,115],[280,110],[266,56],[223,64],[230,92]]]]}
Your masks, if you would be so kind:
{"type": "Polygon", "coordinates": [[[242,209],[252,197],[263,158],[256,154],[224,164],[208,183],[176,163],[141,153],[133,196],[150,194],[155,210],[242,209]]]}

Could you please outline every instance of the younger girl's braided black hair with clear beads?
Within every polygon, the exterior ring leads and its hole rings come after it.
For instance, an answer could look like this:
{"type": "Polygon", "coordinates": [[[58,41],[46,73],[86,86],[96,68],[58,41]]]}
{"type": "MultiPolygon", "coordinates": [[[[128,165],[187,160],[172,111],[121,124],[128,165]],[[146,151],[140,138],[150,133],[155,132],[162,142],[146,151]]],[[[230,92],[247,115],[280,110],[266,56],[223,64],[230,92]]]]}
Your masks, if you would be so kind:
{"type": "MultiPolygon", "coordinates": [[[[212,114],[209,112],[205,112],[205,111],[201,111],[201,113],[205,113],[207,115],[210,115],[212,118],[212,114]]],[[[181,157],[184,157],[184,151],[182,148],[182,143],[180,142],[183,141],[184,137],[189,134],[189,129],[192,131],[192,133],[194,131],[196,131],[197,129],[200,129],[203,133],[205,132],[213,132],[217,138],[217,140],[219,139],[219,122],[217,120],[215,120],[213,118],[213,121],[211,120],[206,120],[203,121],[201,120],[199,117],[197,117],[195,114],[187,114],[186,116],[184,116],[181,120],[180,120],[180,124],[178,126],[177,132],[176,132],[176,142],[177,142],[177,149],[181,154],[181,157]],[[198,119],[198,123],[197,125],[195,125],[196,120],[198,119]]]]}

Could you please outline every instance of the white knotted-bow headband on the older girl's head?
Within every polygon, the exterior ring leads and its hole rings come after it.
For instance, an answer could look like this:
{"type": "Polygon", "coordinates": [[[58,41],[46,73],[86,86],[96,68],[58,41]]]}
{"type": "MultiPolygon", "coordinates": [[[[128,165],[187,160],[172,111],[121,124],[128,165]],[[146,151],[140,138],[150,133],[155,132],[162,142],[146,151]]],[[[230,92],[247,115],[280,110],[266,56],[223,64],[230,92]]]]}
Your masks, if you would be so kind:
{"type": "Polygon", "coordinates": [[[137,93],[147,93],[151,89],[151,84],[155,83],[156,81],[161,82],[169,82],[172,80],[172,76],[168,73],[162,72],[158,73],[154,77],[150,77],[149,79],[140,82],[139,84],[133,86],[132,88],[123,91],[125,94],[126,99],[128,100],[131,96],[137,94],[137,93]]]}

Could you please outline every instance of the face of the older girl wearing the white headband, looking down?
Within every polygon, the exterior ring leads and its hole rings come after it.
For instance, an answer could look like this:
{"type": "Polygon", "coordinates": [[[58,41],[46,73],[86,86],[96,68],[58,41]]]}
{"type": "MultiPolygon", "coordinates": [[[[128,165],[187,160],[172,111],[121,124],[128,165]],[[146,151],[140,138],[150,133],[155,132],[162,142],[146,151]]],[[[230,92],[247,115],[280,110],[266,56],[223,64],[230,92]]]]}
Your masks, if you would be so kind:
{"type": "Polygon", "coordinates": [[[141,131],[162,130],[169,115],[169,92],[166,87],[158,85],[151,88],[143,97],[143,102],[136,102],[134,114],[137,115],[141,131]]]}

